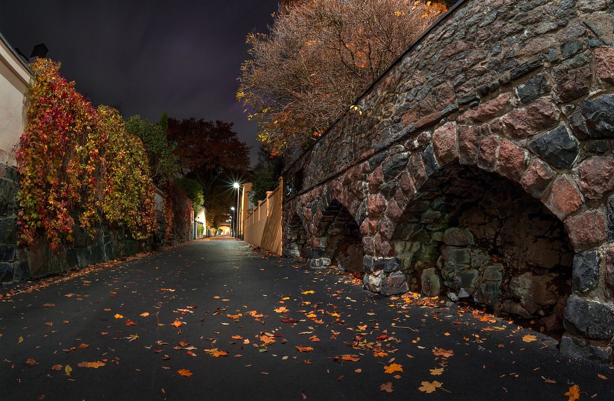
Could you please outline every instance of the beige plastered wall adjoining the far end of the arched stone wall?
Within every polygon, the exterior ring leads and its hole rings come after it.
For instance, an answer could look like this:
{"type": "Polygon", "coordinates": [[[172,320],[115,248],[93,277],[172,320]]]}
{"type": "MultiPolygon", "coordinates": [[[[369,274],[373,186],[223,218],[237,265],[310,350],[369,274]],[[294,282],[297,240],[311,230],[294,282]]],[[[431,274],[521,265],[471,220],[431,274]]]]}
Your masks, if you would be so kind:
{"type": "Polygon", "coordinates": [[[274,191],[266,193],[266,199],[248,211],[245,220],[244,240],[257,247],[281,255],[281,202],[282,182],[274,191]]]}

